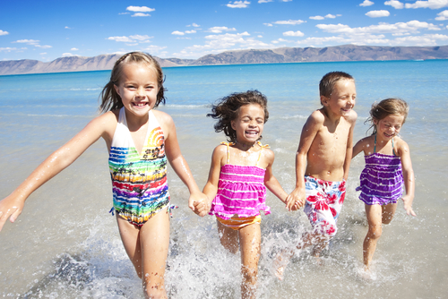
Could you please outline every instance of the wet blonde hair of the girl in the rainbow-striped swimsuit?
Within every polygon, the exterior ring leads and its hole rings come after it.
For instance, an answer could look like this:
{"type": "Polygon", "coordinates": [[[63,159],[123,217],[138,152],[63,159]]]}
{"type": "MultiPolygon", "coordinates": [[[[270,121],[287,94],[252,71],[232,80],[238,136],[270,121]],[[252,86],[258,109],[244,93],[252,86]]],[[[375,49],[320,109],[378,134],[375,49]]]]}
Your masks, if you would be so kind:
{"type": "Polygon", "coordinates": [[[101,112],[107,112],[123,107],[123,101],[116,93],[114,85],[119,84],[123,73],[123,66],[125,64],[146,64],[149,68],[151,68],[156,73],[159,87],[159,92],[157,94],[156,104],[154,107],[158,107],[160,103],[165,104],[166,98],[163,93],[166,90],[163,88],[164,78],[160,64],[149,54],[142,52],[131,52],[118,58],[114,64],[114,68],[110,73],[110,80],[104,87],[103,91],[101,91],[101,104],[99,105],[99,110],[101,110],[101,112]]]}

